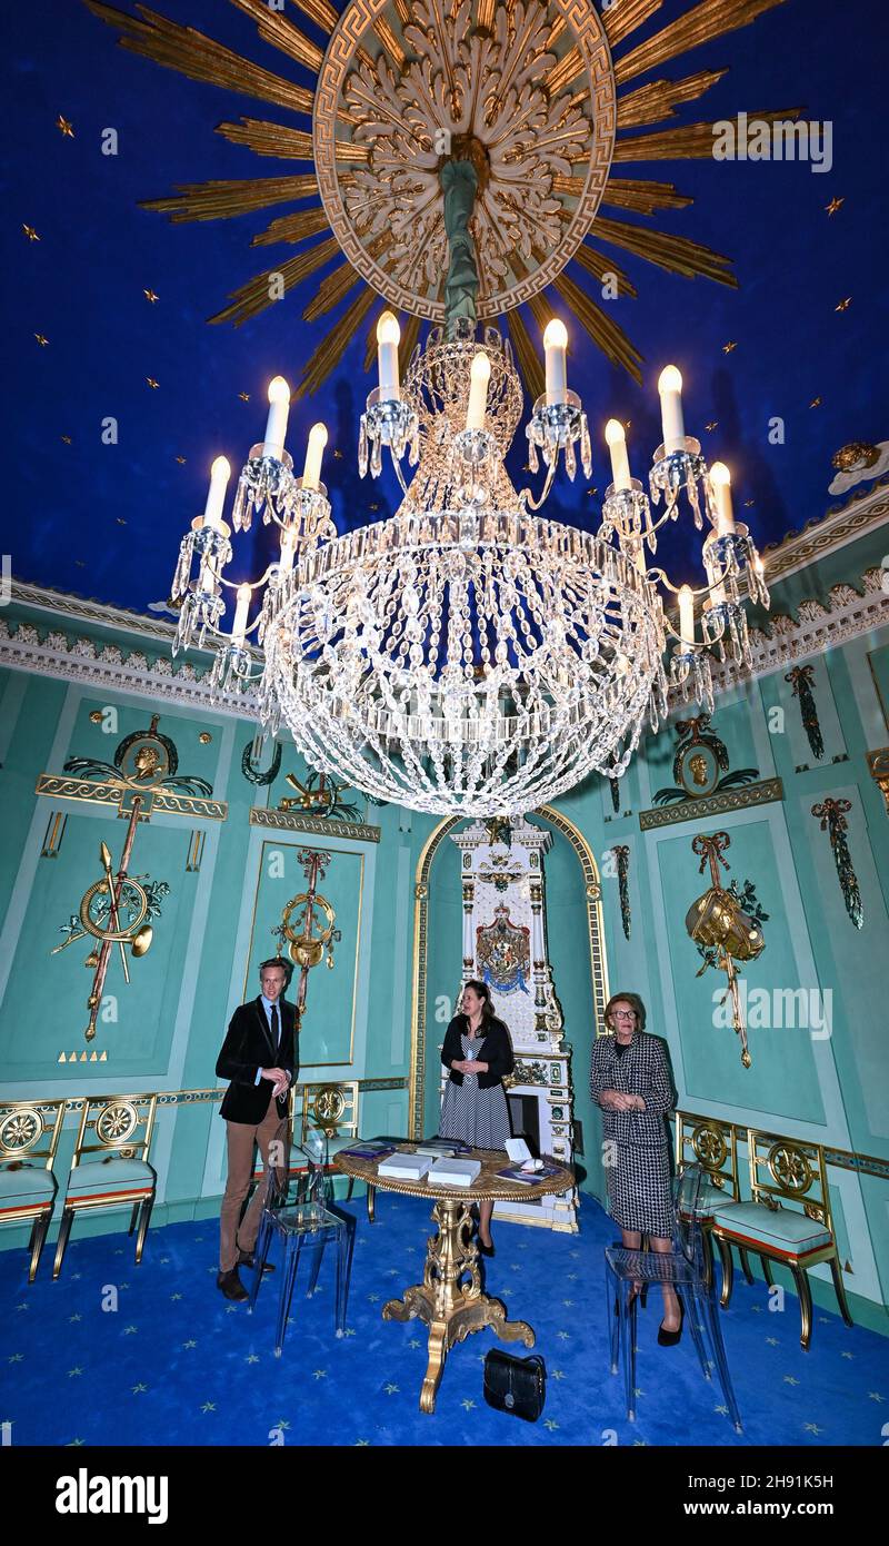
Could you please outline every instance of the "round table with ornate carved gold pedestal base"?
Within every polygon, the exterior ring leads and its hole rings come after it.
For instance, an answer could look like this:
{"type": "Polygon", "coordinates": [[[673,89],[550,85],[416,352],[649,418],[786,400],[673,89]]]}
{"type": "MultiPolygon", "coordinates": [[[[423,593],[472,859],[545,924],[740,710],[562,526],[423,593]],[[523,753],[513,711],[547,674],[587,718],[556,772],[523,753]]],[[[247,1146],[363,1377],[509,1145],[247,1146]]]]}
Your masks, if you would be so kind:
{"type": "MultiPolygon", "coordinates": [[[[411,1146],[404,1150],[412,1153],[411,1146]]],[[[502,1342],[523,1342],[534,1347],[534,1331],[526,1320],[508,1320],[506,1306],[482,1288],[478,1251],[472,1241],[472,1203],[508,1201],[526,1203],[549,1192],[566,1192],[574,1186],[570,1166],[559,1166],[559,1173],[545,1181],[525,1186],[520,1181],[505,1181],[497,1170],[509,1161],[505,1153],[489,1149],[474,1149],[472,1160],[482,1163],[472,1186],[435,1189],[424,1177],[421,1181],[398,1181],[377,1173],[377,1161],[357,1160],[340,1153],[333,1166],[355,1181],[366,1181],[383,1192],[401,1192],[404,1197],[428,1197],[432,1201],[432,1220],[438,1234],[426,1241],[426,1266],[423,1282],[414,1283],[401,1299],[383,1305],[383,1320],[424,1320],[429,1326],[429,1362],[420,1391],[420,1411],[435,1410],[435,1394],[444,1371],[444,1359],[455,1342],[463,1342],[472,1331],[491,1326],[502,1342]]],[[[543,1156],[548,1158],[548,1156],[543,1156]]],[[[556,1164],[557,1161],[549,1161],[556,1164]]]]}

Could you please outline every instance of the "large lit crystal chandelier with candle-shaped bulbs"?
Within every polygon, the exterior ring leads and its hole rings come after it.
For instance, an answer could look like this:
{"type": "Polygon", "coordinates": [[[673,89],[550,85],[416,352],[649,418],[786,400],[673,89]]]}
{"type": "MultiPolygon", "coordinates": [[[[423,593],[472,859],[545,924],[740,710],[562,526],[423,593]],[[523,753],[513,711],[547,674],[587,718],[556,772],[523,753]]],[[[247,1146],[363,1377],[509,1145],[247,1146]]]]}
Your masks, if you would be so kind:
{"type": "Polygon", "coordinates": [[[489,816],[531,810],[593,771],[619,778],[645,722],[656,730],[667,713],[670,688],[712,707],[710,654],[728,648],[750,663],[742,572],[750,597],[769,604],[761,560],[732,513],[728,472],[708,470],[685,434],[679,373],[668,366],[659,380],[664,444],[648,492],[630,475],[624,427],[608,422],[613,482],[590,533],[536,515],[562,458],[570,478],[577,455],[591,472],[562,323],[546,329],[546,391],[525,431],[531,470],[539,456],[545,468],[537,498],[517,493],[503,464],[522,413],[509,342],[492,326],[477,340],[474,323],[458,318],[431,331],[400,383],[392,314],[377,335],[380,386],[361,417],[360,470],[377,476],[386,448],[404,490],[398,512],[336,535],[319,481],[324,427],[312,430],[295,478],[284,450],[289,393],[276,377],[232,524],[247,530],[253,513],[275,523],[281,558],[252,584],[225,580],[228,464],[218,459],[207,510],[182,540],[174,649],[210,635],[213,690],[242,690],[255,676],[247,635],[256,632],[264,730],[276,734],[284,720],[312,767],[383,801],[489,816]],[[710,527],[696,592],[650,566],[682,504],[698,529],[710,527]],[[238,589],[230,634],[227,586],[238,589]],[[262,604],[247,626],[256,591],[262,604]],[[678,597],[678,626],[664,592],[678,597]]]}

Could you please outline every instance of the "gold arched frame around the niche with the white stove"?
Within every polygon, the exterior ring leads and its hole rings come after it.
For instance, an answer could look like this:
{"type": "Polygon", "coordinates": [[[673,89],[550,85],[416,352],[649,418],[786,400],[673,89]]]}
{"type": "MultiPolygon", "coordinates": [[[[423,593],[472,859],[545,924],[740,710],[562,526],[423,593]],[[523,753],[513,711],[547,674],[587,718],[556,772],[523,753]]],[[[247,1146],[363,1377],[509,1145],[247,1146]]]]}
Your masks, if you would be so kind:
{"type": "MultiPolygon", "coordinates": [[[[596,1034],[602,1034],[605,1005],[608,1003],[608,963],[605,959],[605,929],[602,925],[602,886],[599,867],[593,849],[579,827],[563,816],[554,805],[540,805],[531,812],[556,827],[568,838],[583,872],[583,887],[586,892],[586,928],[590,934],[590,980],[593,988],[593,1013],[596,1016],[596,1034]]],[[[411,1002],[411,1076],[409,1076],[409,1112],[407,1133],[411,1138],[423,1136],[423,1101],[426,1093],[426,968],[429,952],[429,872],[432,860],[441,841],[454,832],[466,816],[444,816],[429,833],[423,852],[417,861],[414,880],[414,989],[411,1002]]]]}

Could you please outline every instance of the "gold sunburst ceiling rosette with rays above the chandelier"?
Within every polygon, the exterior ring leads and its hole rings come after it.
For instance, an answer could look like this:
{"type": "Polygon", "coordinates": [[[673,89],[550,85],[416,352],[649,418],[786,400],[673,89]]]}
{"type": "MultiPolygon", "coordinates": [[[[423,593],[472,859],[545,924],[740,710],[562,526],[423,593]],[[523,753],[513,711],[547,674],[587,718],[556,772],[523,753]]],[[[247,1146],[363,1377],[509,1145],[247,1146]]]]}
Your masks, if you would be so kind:
{"type": "MultiPolygon", "coordinates": [[[[540,366],[517,308],[528,305],[534,322],[545,323],[553,315],[546,291],[610,360],[641,379],[639,351],[590,294],[603,294],[603,277],[616,278],[619,294],[634,294],[599,243],[673,274],[736,284],[730,260],[710,247],[603,210],[650,218],[691,203],[671,182],[624,169],[712,156],[712,122],[650,125],[673,119],[725,71],[637,80],[783,0],[701,0],[641,43],[631,36],[662,0],[617,0],[602,14],[588,0],[349,0],[341,14],[329,0],[296,0],[324,46],[265,0],[230,0],[278,49],[286,74],[144,6],[130,15],[100,0],[85,3],[120,31],[123,48],[310,121],[309,131],[242,117],[219,124],[218,133],[259,156],[304,161],[312,172],[187,184],[147,204],[194,221],[315,201],[253,238],[253,246],[299,250],[235,291],[232,305],[210,318],[242,323],[340,257],[303,312],[315,322],[349,298],[306,365],[304,391],[333,369],[377,297],[411,317],[406,354],[421,318],[443,320],[448,243],[438,173],[448,159],[472,161],[478,178],[471,221],[478,317],[508,314],[532,394],[542,390],[540,366]],[[313,76],[315,90],[293,74],[313,76]],[[565,272],[570,260],[580,277],[565,272]]],[[[767,122],[796,116],[795,108],[758,113],[767,122]]]]}

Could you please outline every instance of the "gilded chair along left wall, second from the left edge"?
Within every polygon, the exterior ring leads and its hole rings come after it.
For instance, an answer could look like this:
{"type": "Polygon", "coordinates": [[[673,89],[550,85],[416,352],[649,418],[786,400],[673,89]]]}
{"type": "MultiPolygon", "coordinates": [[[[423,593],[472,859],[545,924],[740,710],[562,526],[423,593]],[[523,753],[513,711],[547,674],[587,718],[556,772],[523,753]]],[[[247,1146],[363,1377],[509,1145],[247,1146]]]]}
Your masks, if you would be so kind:
{"type": "Polygon", "coordinates": [[[157,1187],[157,1173],[148,1164],[156,1110],[156,1095],[90,1096],[83,1101],[52,1277],[62,1271],[74,1215],[103,1207],[131,1209],[128,1234],[139,1224],[139,1266],[157,1187]],[[96,1142],[86,1141],[90,1133],[94,1133],[96,1142]]]}

